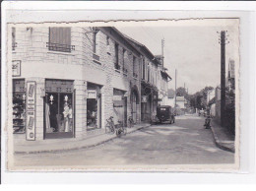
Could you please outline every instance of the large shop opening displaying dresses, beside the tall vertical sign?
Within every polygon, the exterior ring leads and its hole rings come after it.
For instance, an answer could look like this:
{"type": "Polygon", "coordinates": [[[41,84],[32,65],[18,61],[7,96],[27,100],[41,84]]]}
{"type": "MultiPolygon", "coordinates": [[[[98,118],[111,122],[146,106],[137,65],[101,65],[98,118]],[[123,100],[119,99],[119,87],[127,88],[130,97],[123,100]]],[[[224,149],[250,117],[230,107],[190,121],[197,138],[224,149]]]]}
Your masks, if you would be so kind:
{"type": "Polygon", "coordinates": [[[44,139],[75,137],[75,90],[73,81],[46,80],[44,139]]]}

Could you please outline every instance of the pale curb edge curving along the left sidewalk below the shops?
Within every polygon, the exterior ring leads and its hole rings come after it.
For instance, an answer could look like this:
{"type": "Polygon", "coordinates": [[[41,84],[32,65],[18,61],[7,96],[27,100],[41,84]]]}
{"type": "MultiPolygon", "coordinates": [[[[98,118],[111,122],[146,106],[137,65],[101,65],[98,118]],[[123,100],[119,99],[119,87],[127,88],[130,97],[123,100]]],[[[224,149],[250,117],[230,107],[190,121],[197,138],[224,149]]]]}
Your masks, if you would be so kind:
{"type": "MultiPolygon", "coordinates": [[[[128,134],[132,134],[138,130],[144,129],[144,128],[148,128],[151,125],[147,125],[147,126],[143,126],[143,127],[139,127],[137,129],[133,129],[130,132],[127,132],[126,135],[128,134]]],[[[110,137],[109,139],[105,139],[102,140],[94,145],[88,145],[88,146],[78,146],[78,147],[74,147],[74,148],[69,148],[69,149],[56,149],[56,150],[44,150],[44,151],[32,151],[32,152],[14,152],[14,154],[46,154],[46,153],[59,153],[59,152],[69,152],[69,151],[74,151],[74,150],[80,150],[80,149],[90,149],[90,148],[94,148],[96,146],[102,145],[104,143],[107,143],[109,141],[112,141],[114,139],[116,139],[118,137],[114,136],[114,137],[110,137]]]]}

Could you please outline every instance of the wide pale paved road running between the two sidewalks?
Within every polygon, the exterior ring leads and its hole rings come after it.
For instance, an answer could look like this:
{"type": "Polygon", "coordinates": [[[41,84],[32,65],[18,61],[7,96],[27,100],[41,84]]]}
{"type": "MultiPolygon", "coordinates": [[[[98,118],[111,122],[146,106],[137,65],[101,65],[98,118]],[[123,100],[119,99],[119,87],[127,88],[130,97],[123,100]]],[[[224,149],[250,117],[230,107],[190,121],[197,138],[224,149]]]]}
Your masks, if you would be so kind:
{"type": "Polygon", "coordinates": [[[154,125],[87,150],[16,155],[15,165],[210,164],[232,163],[217,148],[204,119],[180,116],[175,124],[154,125]]]}

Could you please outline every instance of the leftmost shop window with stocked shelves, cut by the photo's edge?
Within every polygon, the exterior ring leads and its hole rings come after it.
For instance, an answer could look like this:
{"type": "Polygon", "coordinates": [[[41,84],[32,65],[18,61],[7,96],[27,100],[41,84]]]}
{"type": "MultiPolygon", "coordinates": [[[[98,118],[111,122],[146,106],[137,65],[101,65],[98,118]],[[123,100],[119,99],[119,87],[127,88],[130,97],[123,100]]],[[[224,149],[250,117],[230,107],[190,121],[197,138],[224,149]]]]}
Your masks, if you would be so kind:
{"type": "Polygon", "coordinates": [[[25,133],[25,80],[13,80],[13,132],[25,133]]]}

